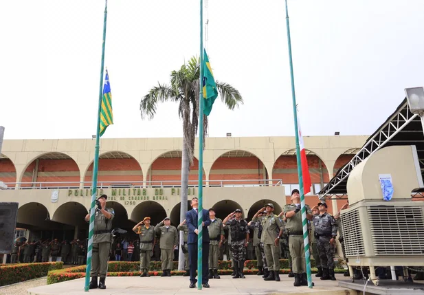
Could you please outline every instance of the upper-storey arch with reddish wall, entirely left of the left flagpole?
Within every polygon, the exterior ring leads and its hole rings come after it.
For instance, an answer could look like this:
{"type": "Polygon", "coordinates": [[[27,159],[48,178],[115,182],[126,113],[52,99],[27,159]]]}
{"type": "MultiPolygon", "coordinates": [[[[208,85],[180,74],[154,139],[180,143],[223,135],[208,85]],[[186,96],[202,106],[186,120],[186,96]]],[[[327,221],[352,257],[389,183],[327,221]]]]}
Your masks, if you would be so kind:
{"type": "Polygon", "coordinates": [[[27,163],[19,177],[21,187],[37,186],[50,188],[72,187],[78,188],[80,182],[80,168],[76,160],[63,152],[41,153],[27,163]],[[55,183],[59,182],[59,183],[55,183]]]}

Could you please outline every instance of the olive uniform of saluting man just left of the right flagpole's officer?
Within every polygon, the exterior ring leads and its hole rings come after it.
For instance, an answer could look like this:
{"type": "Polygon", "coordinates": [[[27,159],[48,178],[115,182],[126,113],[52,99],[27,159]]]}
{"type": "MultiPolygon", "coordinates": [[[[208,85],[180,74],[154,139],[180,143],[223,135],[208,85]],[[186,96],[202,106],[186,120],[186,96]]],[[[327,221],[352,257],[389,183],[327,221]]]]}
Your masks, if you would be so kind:
{"type": "MultiPolygon", "coordinates": [[[[258,221],[258,217],[254,218],[254,221],[258,221]]],[[[271,212],[270,215],[266,215],[262,219],[262,236],[260,241],[263,241],[265,248],[265,257],[267,259],[268,270],[275,272],[280,271],[280,243],[275,244],[275,241],[283,230],[282,222],[280,218],[271,212]]]]}

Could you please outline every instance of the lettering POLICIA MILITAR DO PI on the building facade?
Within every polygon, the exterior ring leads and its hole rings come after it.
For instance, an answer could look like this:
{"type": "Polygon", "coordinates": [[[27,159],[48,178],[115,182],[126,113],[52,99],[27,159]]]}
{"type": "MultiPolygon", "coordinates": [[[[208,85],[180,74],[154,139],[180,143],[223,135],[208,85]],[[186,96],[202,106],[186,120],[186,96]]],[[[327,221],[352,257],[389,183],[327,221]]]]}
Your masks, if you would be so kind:
{"type": "MultiPolygon", "coordinates": [[[[135,201],[167,200],[168,196],[179,196],[180,188],[99,188],[97,195],[108,195],[108,201],[125,201],[126,205],[135,205],[135,201]]],[[[91,197],[92,189],[80,188],[68,190],[68,197],[91,197]]],[[[195,188],[188,188],[188,195],[197,194],[195,188]]]]}

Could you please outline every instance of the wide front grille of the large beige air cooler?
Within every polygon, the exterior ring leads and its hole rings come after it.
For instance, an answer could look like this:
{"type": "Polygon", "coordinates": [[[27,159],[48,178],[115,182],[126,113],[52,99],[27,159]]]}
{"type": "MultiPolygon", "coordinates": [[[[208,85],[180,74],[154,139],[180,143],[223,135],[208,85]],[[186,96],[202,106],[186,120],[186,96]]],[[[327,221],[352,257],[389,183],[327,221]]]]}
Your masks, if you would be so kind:
{"type": "Polygon", "coordinates": [[[421,207],[368,207],[376,255],[423,255],[424,217],[421,207]]]}

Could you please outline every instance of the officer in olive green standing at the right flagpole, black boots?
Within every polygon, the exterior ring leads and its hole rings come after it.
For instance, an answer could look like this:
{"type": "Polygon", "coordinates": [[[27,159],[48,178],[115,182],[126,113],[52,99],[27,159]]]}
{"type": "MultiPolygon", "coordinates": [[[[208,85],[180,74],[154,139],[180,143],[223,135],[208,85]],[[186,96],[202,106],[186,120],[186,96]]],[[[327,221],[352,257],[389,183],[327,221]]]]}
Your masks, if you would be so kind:
{"type": "MultiPolygon", "coordinates": [[[[287,219],[286,229],[289,235],[290,255],[293,263],[293,286],[307,286],[306,262],[304,257],[302,211],[300,210],[299,190],[291,191],[291,204],[284,206],[284,217],[287,219]]],[[[306,218],[312,220],[311,208],[306,206],[306,218]]]]}

